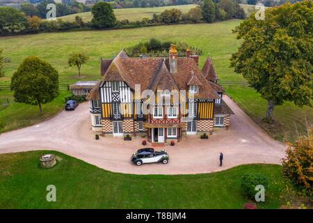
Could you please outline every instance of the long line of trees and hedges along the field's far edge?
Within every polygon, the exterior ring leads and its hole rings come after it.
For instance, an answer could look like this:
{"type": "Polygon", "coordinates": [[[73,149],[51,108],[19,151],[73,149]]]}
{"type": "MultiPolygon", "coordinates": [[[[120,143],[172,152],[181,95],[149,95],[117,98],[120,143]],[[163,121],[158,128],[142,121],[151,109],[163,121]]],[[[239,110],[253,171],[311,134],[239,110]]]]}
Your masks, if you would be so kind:
{"type": "MultiPolygon", "coordinates": [[[[51,0],[45,0],[47,1],[51,0]]],[[[90,22],[84,22],[78,15],[74,22],[65,22],[61,19],[42,20],[35,14],[26,15],[15,8],[0,7],[0,36],[70,30],[127,29],[162,24],[216,22],[246,17],[243,8],[233,0],[219,0],[218,3],[202,0],[200,6],[191,8],[187,13],[172,8],[164,10],[159,15],[154,14],[150,19],[144,18],[135,22],[116,20],[111,4],[106,2],[96,3],[92,8],[92,14],[93,20],[90,22]]]]}

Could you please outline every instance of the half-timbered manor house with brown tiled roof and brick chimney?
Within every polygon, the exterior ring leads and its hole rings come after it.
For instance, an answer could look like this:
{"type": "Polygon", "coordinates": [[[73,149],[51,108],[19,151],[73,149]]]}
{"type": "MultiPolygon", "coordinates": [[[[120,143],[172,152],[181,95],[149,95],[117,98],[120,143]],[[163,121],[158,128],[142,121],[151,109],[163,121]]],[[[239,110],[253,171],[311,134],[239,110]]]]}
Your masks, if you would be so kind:
{"type": "Polygon", "coordinates": [[[114,59],[101,60],[101,74],[102,81],[87,96],[95,132],[144,134],[162,143],[230,125],[233,112],[223,100],[224,89],[209,57],[200,70],[198,56],[187,49],[186,56],[179,57],[175,45],[167,58],[130,58],[122,50],[114,59]],[[154,101],[146,90],[154,92],[154,101]],[[182,91],[186,93],[175,101],[172,92],[182,91]]]}

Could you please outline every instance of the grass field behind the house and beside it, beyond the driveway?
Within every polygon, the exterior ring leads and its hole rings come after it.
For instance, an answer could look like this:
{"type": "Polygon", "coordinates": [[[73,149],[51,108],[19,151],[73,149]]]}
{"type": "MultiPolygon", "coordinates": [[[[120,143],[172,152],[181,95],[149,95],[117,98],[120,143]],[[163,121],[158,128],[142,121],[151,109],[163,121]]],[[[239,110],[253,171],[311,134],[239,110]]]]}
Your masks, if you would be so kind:
{"type": "MultiPolygon", "coordinates": [[[[6,77],[0,78],[0,84],[9,84],[10,77],[22,60],[31,55],[39,56],[51,63],[58,70],[62,84],[71,84],[78,80],[97,80],[101,78],[100,57],[113,58],[121,49],[150,38],[184,41],[193,47],[198,47],[203,52],[203,55],[200,56],[200,67],[209,53],[221,80],[244,81],[241,75],[234,73],[233,68],[230,68],[230,56],[236,52],[240,44],[232,33],[232,29],[240,22],[241,20],[230,20],[213,24],[179,24],[110,31],[41,33],[0,38],[0,48],[4,49],[4,56],[10,57],[12,61],[6,63],[6,77]],[[77,76],[77,69],[67,65],[67,56],[71,52],[86,52],[90,56],[88,63],[82,66],[82,77],[80,78],[77,76]]],[[[305,132],[306,122],[313,123],[311,107],[299,108],[292,103],[286,103],[275,107],[274,118],[277,121],[275,125],[264,125],[262,118],[266,113],[266,100],[248,87],[232,85],[224,87],[227,93],[276,139],[283,140],[284,135],[289,139],[295,139],[297,131],[298,133],[305,132]]],[[[47,116],[51,116],[63,108],[65,94],[66,92],[62,93],[55,102],[45,105],[45,115],[38,118],[38,107],[17,104],[12,102],[12,93],[0,92],[1,103],[6,103],[6,98],[11,99],[10,105],[0,105],[0,121],[5,125],[0,132],[40,122],[47,116]],[[50,105],[54,107],[53,110],[50,109],[50,105]],[[27,121],[24,120],[26,112],[30,113],[27,121]],[[51,114],[47,114],[50,112],[51,114]]]]}

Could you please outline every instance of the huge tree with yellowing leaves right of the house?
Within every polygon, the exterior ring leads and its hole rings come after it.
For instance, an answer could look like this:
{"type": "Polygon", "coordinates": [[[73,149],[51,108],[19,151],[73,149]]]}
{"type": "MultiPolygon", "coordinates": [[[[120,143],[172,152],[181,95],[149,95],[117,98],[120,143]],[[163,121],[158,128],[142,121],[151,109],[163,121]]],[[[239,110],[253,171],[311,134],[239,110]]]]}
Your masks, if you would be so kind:
{"type": "Polygon", "coordinates": [[[313,89],[313,3],[268,8],[265,19],[255,13],[234,29],[242,40],[231,66],[268,102],[266,118],[284,101],[311,105],[313,89]]]}

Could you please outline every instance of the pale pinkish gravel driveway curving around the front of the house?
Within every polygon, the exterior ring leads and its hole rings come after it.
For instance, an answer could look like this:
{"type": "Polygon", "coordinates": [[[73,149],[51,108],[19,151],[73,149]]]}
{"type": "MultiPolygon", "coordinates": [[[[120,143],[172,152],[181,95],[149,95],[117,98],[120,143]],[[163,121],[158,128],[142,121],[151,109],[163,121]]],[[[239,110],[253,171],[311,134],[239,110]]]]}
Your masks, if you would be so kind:
{"type": "Polygon", "coordinates": [[[279,164],[285,146],[269,137],[226,95],[224,100],[235,113],[230,129],[218,129],[208,140],[188,136],[175,146],[166,146],[168,164],[131,164],[131,154],[143,147],[141,138],[123,141],[100,137],[96,141],[90,130],[88,102],[74,112],[63,111],[38,125],[0,134],[0,153],[51,149],[102,169],[128,174],[200,174],[239,164],[279,164]],[[220,152],[224,154],[223,167],[218,167],[220,152]]]}

